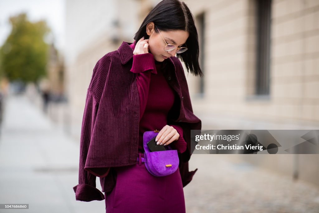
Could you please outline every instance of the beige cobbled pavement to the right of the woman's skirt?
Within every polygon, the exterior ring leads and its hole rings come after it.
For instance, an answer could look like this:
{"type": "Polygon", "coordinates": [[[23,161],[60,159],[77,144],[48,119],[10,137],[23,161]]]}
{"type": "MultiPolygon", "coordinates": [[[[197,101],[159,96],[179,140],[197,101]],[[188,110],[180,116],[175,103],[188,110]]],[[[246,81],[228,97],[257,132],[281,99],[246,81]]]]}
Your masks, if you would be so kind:
{"type": "Polygon", "coordinates": [[[187,213],[319,213],[318,186],[294,181],[292,175],[254,166],[237,155],[194,154],[189,170],[196,168],[184,187],[187,213]]]}

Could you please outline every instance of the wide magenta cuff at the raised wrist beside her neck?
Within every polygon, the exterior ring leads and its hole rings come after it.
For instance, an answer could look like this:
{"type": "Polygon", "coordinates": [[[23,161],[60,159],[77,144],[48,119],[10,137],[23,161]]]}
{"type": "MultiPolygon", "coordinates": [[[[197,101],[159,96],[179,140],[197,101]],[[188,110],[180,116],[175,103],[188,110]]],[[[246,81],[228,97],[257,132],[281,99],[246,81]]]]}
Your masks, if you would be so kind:
{"type": "Polygon", "coordinates": [[[133,55],[133,64],[130,71],[139,73],[147,70],[151,70],[151,73],[157,74],[152,53],[133,55]]]}

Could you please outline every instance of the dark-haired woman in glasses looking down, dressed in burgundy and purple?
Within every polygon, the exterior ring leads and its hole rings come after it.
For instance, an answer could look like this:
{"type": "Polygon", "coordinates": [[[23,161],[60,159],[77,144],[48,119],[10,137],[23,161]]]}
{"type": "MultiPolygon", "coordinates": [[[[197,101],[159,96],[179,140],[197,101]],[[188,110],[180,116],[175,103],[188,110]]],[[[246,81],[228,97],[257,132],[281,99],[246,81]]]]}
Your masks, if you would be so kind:
{"type": "Polygon", "coordinates": [[[203,76],[193,16],[183,2],[161,1],[134,40],[103,56],[93,69],[76,200],[105,199],[107,212],[185,212],[183,187],[197,171],[188,169],[190,130],[200,131],[201,121],[193,114],[178,58],[188,72],[203,76]],[[143,133],[155,129],[158,144],[178,151],[179,168],[167,176],[153,176],[143,163],[143,133]]]}

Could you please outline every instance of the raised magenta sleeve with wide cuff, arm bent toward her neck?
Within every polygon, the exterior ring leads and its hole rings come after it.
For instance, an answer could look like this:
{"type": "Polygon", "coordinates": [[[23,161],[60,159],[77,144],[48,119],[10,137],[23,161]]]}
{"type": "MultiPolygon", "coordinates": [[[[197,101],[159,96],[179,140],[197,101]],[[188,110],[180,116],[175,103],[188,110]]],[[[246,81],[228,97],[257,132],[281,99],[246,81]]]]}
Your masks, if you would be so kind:
{"type": "Polygon", "coordinates": [[[146,107],[148,91],[150,88],[151,73],[157,74],[153,55],[151,53],[133,55],[133,64],[130,71],[137,73],[136,84],[140,103],[139,120],[141,120],[146,107]]]}

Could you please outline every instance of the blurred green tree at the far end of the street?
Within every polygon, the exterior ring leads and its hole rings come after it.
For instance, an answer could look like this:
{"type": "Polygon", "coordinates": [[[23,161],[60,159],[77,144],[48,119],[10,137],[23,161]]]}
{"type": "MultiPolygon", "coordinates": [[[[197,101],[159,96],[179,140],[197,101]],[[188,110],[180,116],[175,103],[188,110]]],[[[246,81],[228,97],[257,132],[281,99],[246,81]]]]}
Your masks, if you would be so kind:
{"type": "Polygon", "coordinates": [[[51,30],[44,20],[30,22],[26,13],[9,18],[12,30],[0,48],[0,72],[10,81],[34,82],[46,76],[48,44],[51,30]]]}

